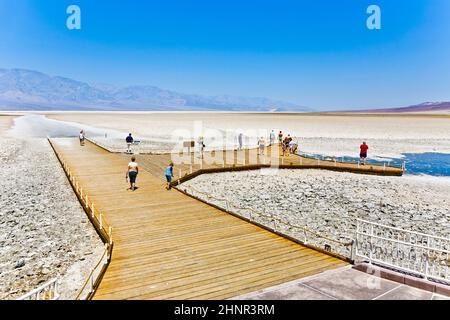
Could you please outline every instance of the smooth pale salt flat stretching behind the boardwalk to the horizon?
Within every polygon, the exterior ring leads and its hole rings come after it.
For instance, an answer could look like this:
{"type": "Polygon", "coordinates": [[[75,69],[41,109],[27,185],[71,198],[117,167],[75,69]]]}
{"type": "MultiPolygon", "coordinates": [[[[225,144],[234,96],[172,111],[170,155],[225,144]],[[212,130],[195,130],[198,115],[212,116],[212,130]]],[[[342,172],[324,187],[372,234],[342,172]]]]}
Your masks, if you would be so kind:
{"type": "Polygon", "coordinates": [[[217,143],[227,131],[228,145],[237,143],[238,132],[248,135],[249,144],[256,145],[258,136],[267,137],[270,130],[282,130],[296,137],[301,151],[307,153],[358,156],[363,140],[370,146],[369,157],[376,159],[399,158],[402,153],[450,153],[448,115],[155,112],[47,116],[124,134],[132,132],[140,139],[174,142],[180,132],[190,133],[192,138],[204,135],[207,147],[217,143]]]}

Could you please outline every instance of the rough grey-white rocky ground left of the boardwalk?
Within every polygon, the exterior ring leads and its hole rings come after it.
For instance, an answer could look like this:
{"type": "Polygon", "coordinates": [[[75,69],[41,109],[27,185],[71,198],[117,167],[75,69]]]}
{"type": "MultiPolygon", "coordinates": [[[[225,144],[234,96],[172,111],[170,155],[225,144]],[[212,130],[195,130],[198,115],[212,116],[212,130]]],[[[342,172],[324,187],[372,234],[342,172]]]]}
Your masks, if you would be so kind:
{"type": "Polygon", "coordinates": [[[60,276],[63,299],[87,278],[103,244],[45,139],[0,140],[0,299],[60,276]]]}

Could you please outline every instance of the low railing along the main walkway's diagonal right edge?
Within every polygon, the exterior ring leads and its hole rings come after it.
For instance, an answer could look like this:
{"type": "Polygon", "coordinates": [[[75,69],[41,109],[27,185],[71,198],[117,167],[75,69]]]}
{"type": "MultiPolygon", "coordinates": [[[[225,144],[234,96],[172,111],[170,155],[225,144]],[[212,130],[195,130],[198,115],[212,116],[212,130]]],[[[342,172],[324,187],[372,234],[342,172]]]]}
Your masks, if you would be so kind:
{"type": "Polygon", "coordinates": [[[349,239],[349,241],[332,239],[304,226],[289,223],[274,216],[273,214],[264,213],[249,207],[242,207],[228,199],[213,196],[192,186],[181,185],[177,188],[193,198],[209,204],[214,204],[222,210],[225,210],[231,214],[236,214],[250,222],[261,225],[279,235],[291,238],[305,246],[312,247],[322,252],[325,251],[327,253],[331,253],[335,256],[343,258],[344,260],[352,260],[354,249],[354,241],[352,239],[349,239]],[[215,200],[215,203],[211,203],[211,200],[215,200]]]}

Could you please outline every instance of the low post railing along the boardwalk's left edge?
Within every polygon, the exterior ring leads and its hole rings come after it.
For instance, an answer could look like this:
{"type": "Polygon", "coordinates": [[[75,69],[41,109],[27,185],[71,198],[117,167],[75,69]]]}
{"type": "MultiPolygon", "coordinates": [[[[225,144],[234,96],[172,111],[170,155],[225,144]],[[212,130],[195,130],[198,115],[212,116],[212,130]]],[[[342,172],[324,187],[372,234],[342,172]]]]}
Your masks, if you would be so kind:
{"type": "Polygon", "coordinates": [[[59,153],[54,148],[53,144],[49,140],[51,147],[53,148],[56,157],[60,161],[67,178],[75,191],[81,205],[83,206],[85,212],[87,213],[89,220],[94,225],[101,239],[105,243],[105,249],[98,263],[89,273],[88,278],[84,282],[83,286],[76,295],[77,300],[89,300],[93,297],[95,290],[100,284],[100,281],[109,265],[112,249],[113,249],[113,237],[112,237],[112,227],[108,224],[103,216],[102,212],[96,209],[95,204],[90,199],[89,195],[85,190],[83,190],[80,182],[78,181],[75,174],[70,169],[67,162],[59,155],[59,153]]]}

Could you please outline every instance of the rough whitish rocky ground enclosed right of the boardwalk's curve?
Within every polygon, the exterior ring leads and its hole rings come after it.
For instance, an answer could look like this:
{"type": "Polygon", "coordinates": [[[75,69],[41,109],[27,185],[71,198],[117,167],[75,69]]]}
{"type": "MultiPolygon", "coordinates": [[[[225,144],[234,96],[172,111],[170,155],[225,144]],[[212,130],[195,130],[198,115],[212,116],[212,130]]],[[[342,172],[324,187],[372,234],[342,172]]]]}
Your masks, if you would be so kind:
{"type": "Polygon", "coordinates": [[[449,178],[278,170],[202,175],[183,186],[336,240],[354,238],[357,218],[450,238],[449,178]]]}

